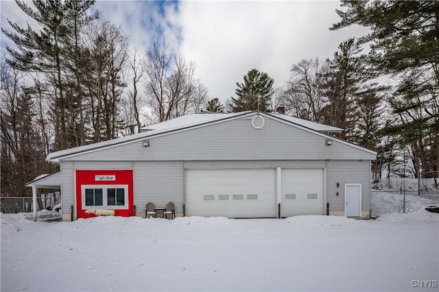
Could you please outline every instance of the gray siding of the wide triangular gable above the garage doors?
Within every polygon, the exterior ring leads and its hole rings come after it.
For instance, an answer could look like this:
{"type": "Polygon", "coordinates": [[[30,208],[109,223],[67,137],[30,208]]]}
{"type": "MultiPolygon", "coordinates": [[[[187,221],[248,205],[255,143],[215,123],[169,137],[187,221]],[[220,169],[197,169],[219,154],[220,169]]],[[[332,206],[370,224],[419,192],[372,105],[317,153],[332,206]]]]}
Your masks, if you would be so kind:
{"type": "Polygon", "coordinates": [[[333,145],[327,146],[327,138],[268,117],[265,126],[256,130],[251,125],[251,117],[246,117],[149,138],[149,147],[143,147],[142,141],[135,141],[64,160],[375,159],[370,152],[336,139],[333,139],[333,145]]]}

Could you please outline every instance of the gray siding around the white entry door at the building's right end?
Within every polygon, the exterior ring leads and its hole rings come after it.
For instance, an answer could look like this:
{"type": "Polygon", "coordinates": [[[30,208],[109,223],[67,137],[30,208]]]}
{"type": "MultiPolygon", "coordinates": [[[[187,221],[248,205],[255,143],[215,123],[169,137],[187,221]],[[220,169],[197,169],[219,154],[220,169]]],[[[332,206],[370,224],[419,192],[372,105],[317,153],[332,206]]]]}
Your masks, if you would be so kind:
{"type": "Polygon", "coordinates": [[[329,210],[344,210],[344,184],[361,184],[361,209],[370,210],[370,160],[327,162],[329,210]],[[337,182],[340,184],[338,188],[337,182]],[[337,192],[338,196],[335,195],[337,192]]]}

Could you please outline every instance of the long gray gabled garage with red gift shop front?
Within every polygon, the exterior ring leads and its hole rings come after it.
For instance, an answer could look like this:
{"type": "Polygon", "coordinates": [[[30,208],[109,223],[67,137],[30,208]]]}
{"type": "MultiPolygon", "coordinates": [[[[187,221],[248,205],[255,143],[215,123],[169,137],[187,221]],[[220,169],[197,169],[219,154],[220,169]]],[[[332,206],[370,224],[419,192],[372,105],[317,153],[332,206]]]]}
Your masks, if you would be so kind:
{"type": "Polygon", "coordinates": [[[376,153],[340,131],[279,113],[189,114],[49,154],[60,172],[27,186],[60,188],[64,220],[91,208],[145,217],[148,202],[177,216],[368,218],[376,153]]]}

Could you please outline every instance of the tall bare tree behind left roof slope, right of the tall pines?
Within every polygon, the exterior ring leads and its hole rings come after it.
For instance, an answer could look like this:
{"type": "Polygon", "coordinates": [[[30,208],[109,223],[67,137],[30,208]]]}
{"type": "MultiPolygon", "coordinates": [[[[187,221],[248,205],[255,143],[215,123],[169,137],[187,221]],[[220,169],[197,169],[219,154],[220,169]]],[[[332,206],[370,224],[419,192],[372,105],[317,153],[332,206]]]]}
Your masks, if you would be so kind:
{"type": "Polygon", "coordinates": [[[87,127],[89,139],[99,142],[117,138],[123,127],[119,102],[126,82],[123,80],[128,56],[128,37],[121,28],[99,21],[87,27],[84,45],[89,53],[87,127]]]}

